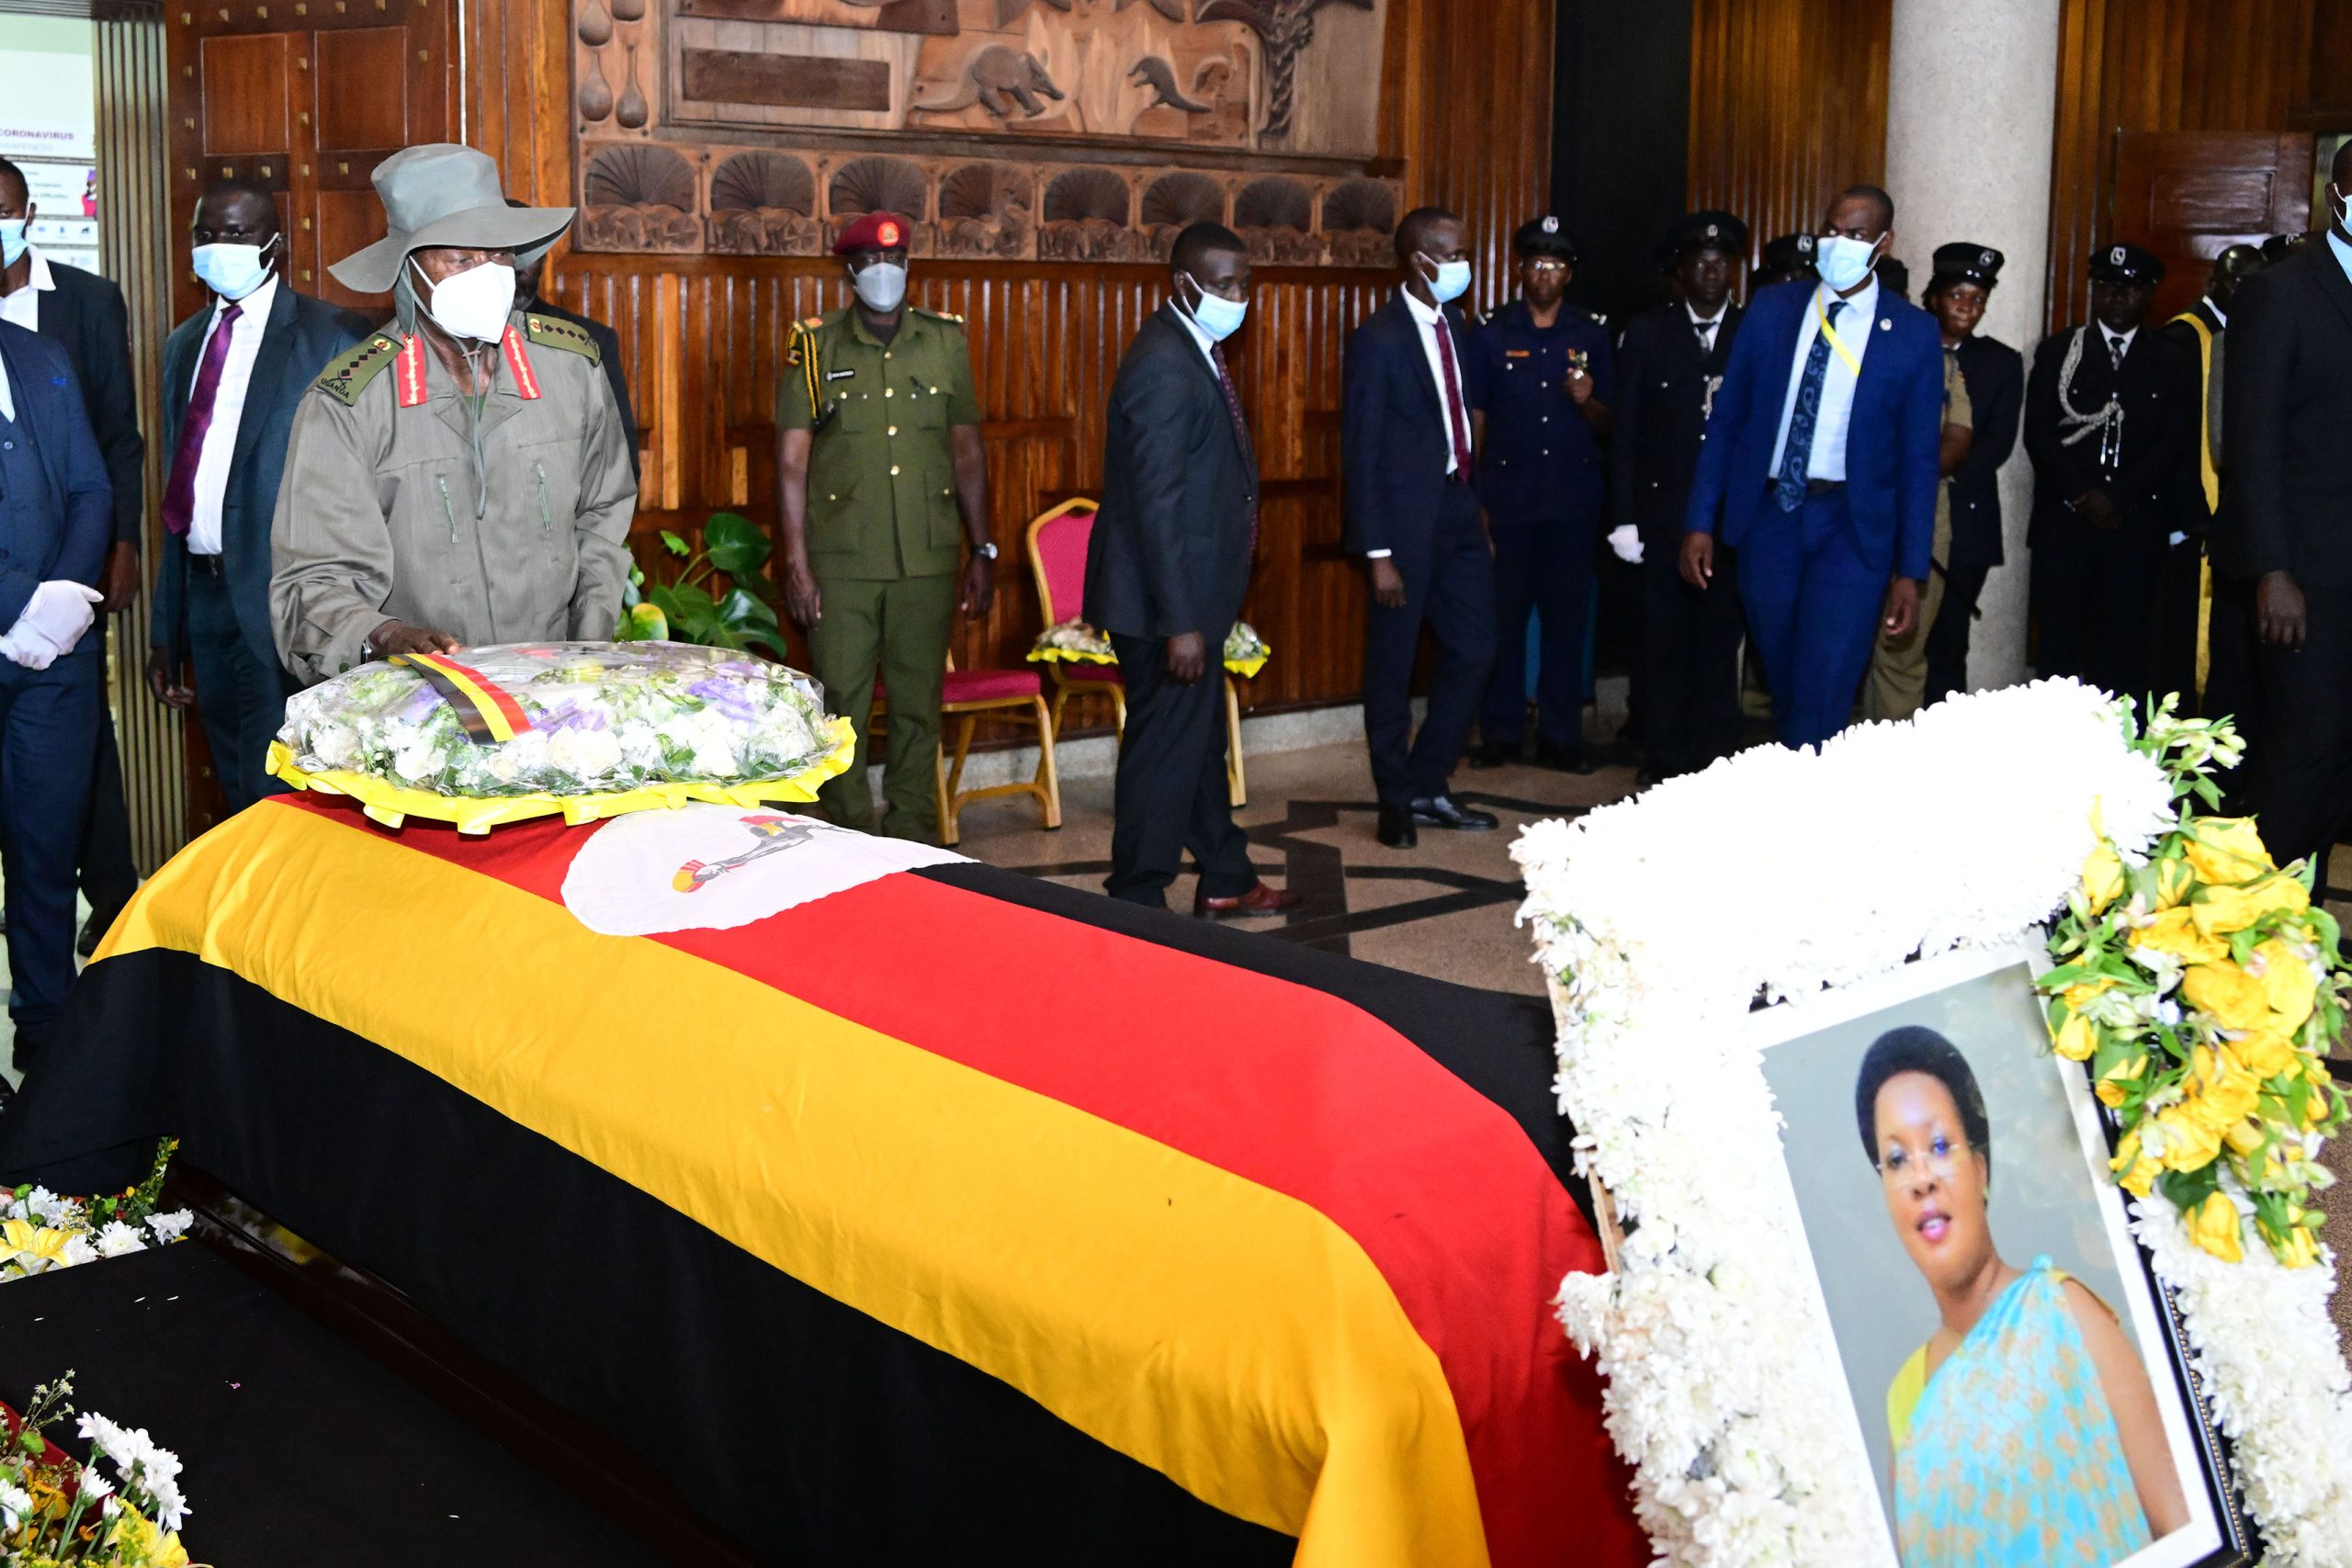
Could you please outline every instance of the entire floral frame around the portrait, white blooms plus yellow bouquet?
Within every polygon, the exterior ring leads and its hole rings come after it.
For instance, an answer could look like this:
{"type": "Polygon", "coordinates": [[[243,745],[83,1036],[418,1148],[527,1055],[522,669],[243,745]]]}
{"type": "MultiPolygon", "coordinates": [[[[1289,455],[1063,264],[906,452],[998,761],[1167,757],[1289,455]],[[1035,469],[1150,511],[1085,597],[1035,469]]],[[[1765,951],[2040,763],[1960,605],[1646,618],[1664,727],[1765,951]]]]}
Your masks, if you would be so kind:
{"type": "Polygon", "coordinates": [[[1820,1420],[1844,1389],[1795,1284],[1795,1218],[1769,1185],[1719,1175],[1780,1159],[1738,1020],[1759,994],[1997,947],[2053,912],[2037,980],[2053,1048],[2119,1117],[2131,1227],[2173,1291],[2265,1561],[2352,1561],[2352,1373],[2310,1204],[2345,1119],[2321,1058],[2352,973],[2310,870],[2274,867],[2251,820],[2199,816],[2218,804],[2211,769],[2239,752],[2227,724],[2171,703],[2138,726],[2103,691],[2037,682],[1818,755],[1757,748],[1522,835],[1559,1105],[1628,1222],[1611,1274],[1562,1281],[1559,1319],[1599,1356],[1663,1561],[1856,1563],[1877,1530],[1820,1420]],[[2004,757],[2030,769],[1987,811],[1985,762],[2004,757]],[[1759,827],[1729,867],[1726,823],[1759,827]],[[1978,832],[1950,853],[1926,823],[1978,832]],[[1693,919],[1691,886],[1729,891],[1693,919]]]}

